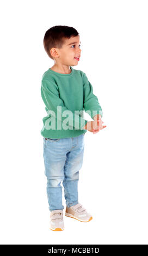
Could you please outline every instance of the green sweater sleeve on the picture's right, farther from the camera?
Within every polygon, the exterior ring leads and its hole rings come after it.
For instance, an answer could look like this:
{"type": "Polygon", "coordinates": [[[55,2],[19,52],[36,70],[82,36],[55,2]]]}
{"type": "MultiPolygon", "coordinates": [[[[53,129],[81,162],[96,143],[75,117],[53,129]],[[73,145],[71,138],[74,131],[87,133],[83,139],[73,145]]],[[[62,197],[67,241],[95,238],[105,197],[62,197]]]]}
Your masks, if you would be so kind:
{"type": "Polygon", "coordinates": [[[83,90],[84,90],[84,102],[83,107],[85,112],[88,111],[88,114],[93,118],[96,114],[101,114],[103,116],[102,108],[98,102],[97,96],[93,93],[93,88],[91,83],[88,81],[88,78],[85,73],[83,73],[83,90]],[[92,111],[96,111],[92,112],[92,111]]]}

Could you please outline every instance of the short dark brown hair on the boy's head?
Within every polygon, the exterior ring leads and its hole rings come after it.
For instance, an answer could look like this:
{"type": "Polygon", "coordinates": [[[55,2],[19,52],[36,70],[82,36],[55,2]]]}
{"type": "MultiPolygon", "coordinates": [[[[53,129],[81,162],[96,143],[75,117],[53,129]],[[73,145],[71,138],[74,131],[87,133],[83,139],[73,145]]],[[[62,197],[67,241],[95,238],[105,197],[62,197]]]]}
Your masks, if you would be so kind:
{"type": "Polygon", "coordinates": [[[64,44],[66,38],[71,38],[71,36],[77,36],[79,33],[73,27],[68,26],[54,26],[48,29],[44,35],[44,48],[48,56],[51,56],[50,50],[52,47],[61,48],[64,44]]]}

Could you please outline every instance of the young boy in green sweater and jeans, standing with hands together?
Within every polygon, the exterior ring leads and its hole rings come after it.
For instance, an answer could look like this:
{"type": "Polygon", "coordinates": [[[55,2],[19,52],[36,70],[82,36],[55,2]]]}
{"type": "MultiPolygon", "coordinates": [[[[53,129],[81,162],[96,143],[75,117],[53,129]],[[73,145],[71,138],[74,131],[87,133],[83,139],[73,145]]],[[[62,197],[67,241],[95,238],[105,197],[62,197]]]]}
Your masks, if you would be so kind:
{"type": "Polygon", "coordinates": [[[92,220],[78,202],[84,136],[87,130],[96,133],[106,127],[102,125],[102,108],[87,76],[72,68],[81,57],[79,46],[79,34],[73,27],[54,26],[45,33],[44,48],[54,65],[41,81],[41,96],[47,112],[42,119],[41,135],[44,137],[50,229],[56,231],[64,229],[61,181],[66,200],[65,216],[82,222],[92,220]],[[83,109],[94,121],[83,118],[83,109]]]}

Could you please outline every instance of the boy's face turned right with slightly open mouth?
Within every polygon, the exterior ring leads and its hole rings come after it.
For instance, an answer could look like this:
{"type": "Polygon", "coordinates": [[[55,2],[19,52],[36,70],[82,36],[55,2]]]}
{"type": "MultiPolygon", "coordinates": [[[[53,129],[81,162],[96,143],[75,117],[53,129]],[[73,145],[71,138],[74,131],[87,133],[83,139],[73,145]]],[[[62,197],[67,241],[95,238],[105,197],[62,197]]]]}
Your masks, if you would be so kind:
{"type": "Polygon", "coordinates": [[[81,56],[80,44],[79,35],[72,36],[70,39],[66,38],[63,46],[57,49],[60,63],[67,66],[76,66],[81,56]],[[76,59],[76,57],[78,57],[78,59],[76,59]]]}

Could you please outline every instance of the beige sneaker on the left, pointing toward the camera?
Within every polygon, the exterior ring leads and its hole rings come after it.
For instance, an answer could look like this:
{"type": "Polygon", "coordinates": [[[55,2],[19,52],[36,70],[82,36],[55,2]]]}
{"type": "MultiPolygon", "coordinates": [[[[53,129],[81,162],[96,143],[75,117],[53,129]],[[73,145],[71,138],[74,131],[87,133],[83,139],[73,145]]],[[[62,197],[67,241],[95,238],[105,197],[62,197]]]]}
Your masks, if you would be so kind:
{"type": "Polygon", "coordinates": [[[63,210],[53,210],[50,214],[50,229],[53,231],[64,230],[63,210]]]}

